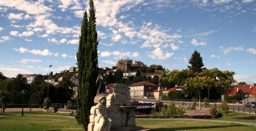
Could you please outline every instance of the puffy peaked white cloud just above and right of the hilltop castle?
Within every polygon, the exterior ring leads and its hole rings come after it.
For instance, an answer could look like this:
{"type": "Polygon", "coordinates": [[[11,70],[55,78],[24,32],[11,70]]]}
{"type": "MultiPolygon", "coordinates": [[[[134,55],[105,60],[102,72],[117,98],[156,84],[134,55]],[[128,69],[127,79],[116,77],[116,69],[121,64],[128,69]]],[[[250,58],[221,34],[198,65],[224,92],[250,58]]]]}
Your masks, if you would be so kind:
{"type": "Polygon", "coordinates": [[[149,54],[148,57],[150,57],[151,59],[159,59],[159,60],[168,59],[169,57],[171,57],[174,54],[174,53],[169,53],[169,52],[164,53],[161,48],[156,48],[155,50],[153,50],[150,53],[151,54],[149,54]]]}

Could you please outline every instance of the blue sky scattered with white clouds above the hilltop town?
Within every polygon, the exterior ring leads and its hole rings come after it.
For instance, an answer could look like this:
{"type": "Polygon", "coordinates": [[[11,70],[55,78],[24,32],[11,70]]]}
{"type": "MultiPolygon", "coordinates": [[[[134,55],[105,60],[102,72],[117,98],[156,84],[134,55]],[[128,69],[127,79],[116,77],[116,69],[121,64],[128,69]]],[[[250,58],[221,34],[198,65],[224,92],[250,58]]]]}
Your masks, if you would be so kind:
{"type": "MultiPolygon", "coordinates": [[[[99,67],[120,59],[204,67],[256,83],[256,0],[94,0],[99,67]]],[[[0,72],[42,74],[76,66],[88,0],[0,0],[0,72]]]]}

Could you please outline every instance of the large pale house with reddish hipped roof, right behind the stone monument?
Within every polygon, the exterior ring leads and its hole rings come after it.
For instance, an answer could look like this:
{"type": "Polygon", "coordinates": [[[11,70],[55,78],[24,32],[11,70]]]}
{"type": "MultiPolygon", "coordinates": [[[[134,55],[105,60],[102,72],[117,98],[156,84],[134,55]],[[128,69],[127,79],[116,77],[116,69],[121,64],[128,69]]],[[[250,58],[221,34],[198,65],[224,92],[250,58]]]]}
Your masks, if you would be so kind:
{"type": "Polygon", "coordinates": [[[130,84],[131,97],[138,97],[144,99],[156,99],[152,90],[158,89],[158,85],[148,81],[141,81],[130,84]]]}

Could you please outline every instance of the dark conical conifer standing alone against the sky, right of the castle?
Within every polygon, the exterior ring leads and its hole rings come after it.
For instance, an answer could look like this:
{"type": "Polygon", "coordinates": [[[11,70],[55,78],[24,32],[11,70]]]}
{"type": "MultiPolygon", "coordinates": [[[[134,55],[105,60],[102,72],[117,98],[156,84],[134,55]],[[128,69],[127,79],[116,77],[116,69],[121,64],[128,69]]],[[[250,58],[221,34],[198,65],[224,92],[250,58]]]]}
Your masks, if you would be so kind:
{"type": "Polygon", "coordinates": [[[190,59],[189,59],[189,64],[191,66],[187,66],[190,70],[193,70],[194,72],[201,72],[202,71],[202,67],[204,66],[204,63],[202,61],[202,57],[200,52],[197,52],[197,50],[195,50],[193,52],[193,54],[191,55],[190,59]]]}

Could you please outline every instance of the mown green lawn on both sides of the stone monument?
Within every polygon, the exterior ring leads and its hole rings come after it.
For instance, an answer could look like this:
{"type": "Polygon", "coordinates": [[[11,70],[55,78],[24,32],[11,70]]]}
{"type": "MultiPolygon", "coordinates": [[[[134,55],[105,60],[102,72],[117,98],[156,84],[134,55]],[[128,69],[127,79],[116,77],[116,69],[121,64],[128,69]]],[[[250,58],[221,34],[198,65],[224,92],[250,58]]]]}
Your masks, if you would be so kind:
{"type": "MultiPolygon", "coordinates": [[[[221,112],[220,112],[221,113],[221,112]]],[[[56,116],[56,113],[43,111],[26,111],[25,116],[21,112],[6,112],[0,115],[0,130],[4,131],[83,131],[74,118],[56,116]],[[49,115],[49,116],[26,116],[26,115],[49,115]],[[51,116],[55,115],[55,116],[51,116]]],[[[221,113],[222,114],[222,113],[221,113]]],[[[229,116],[222,116],[214,120],[244,121],[256,123],[256,115],[230,112],[229,116]]],[[[172,119],[136,119],[137,126],[151,128],[153,131],[256,131],[255,126],[247,126],[234,123],[219,123],[209,121],[182,121],[172,119]]]]}

